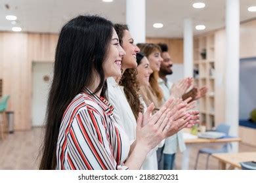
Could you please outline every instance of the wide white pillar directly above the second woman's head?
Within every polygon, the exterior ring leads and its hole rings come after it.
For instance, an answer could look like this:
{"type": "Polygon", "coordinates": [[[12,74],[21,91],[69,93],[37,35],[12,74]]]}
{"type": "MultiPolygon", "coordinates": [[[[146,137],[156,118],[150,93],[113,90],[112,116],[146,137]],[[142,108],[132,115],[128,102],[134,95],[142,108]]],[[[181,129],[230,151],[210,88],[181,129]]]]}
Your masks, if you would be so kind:
{"type": "Polygon", "coordinates": [[[146,42],[146,1],[126,0],[126,24],[135,44],[146,42]]]}

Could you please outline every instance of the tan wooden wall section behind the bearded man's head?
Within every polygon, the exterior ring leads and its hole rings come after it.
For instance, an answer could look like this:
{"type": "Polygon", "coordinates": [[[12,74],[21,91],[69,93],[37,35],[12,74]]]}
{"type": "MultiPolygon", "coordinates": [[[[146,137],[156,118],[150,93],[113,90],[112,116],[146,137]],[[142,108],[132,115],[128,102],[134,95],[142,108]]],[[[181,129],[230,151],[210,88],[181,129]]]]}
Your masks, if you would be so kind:
{"type": "Polygon", "coordinates": [[[183,63],[183,40],[182,39],[170,39],[170,38],[152,38],[147,37],[146,42],[158,44],[164,42],[169,47],[169,54],[173,60],[173,63],[183,63]]]}

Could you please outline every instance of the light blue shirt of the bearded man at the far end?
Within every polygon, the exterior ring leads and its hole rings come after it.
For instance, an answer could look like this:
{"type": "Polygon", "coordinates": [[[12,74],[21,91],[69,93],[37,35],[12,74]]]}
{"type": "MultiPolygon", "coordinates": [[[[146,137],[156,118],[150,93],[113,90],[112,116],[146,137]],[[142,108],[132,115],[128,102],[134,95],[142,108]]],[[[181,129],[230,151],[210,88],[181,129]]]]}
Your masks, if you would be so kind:
{"type": "MultiPolygon", "coordinates": [[[[158,84],[163,92],[163,100],[167,101],[169,99],[171,93],[171,86],[173,86],[173,83],[169,82],[169,80],[166,80],[166,82],[158,78],[158,84]]],[[[186,145],[183,139],[182,132],[179,131],[175,135],[168,137],[165,140],[165,146],[163,148],[163,154],[175,154],[180,150],[183,152],[186,149],[186,145]]]]}

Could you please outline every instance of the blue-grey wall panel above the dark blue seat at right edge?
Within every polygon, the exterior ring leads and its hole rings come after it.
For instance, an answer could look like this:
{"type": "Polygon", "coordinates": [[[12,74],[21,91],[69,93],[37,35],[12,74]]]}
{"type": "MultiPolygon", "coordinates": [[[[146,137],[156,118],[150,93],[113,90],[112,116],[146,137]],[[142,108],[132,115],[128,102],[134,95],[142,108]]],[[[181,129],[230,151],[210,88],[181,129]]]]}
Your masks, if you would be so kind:
{"type": "Polygon", "coordinates": [[[239,118],[248,119],[256,108],[256,58],[240,59],[239,118]]]}

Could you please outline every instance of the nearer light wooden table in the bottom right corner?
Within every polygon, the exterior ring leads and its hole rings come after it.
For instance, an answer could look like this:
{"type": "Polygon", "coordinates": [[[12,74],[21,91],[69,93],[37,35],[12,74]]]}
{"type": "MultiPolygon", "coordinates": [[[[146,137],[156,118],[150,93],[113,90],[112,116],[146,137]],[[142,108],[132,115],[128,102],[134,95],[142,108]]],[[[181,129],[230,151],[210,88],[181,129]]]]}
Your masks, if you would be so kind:
{"type": "Polygon", "coordinates": [[[256,152],[219,153],[211,156],[219,160],[219,168],[221,170],[225,170],[226,165],[230,165],[228,169],[241,169],[241,162],[256,161],[256,152]]]}

